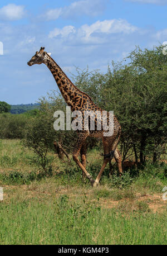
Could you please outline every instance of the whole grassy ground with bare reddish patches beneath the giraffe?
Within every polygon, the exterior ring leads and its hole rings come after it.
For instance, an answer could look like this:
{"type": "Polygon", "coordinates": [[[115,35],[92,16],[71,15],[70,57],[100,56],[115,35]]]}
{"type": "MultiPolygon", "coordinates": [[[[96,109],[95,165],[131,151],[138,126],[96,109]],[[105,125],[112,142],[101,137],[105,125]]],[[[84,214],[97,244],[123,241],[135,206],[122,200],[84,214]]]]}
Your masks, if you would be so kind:
{"type": "MultiPolygon", "coordinates": [[[[33,154],[19,140],[0,141],[0,244],[166,244],[165,163],[105,169],[100,186],[82,181],[73,161],[55,156],[50,177],[40,176],[33,154]]],[[[96,177],[102,157],[88,154],[96,177]]]]}

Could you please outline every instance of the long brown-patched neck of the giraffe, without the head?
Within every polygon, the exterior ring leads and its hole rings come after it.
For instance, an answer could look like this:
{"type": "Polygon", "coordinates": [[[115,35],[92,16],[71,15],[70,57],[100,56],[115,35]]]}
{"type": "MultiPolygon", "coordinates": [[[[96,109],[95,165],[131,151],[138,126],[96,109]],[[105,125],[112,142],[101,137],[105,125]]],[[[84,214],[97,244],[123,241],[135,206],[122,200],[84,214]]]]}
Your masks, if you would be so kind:
{"type": "Polygon", "coordinates": [[[84,103],[91,101],[91,98],[86,93],[81,92],[71,82],[67,75],[50,56],[47,56],[44,63],[47,65],[48,69],[50,69],[63,98],[65,99],[67,105],[71,107],[72,111],[80,110],[84,103]]]}

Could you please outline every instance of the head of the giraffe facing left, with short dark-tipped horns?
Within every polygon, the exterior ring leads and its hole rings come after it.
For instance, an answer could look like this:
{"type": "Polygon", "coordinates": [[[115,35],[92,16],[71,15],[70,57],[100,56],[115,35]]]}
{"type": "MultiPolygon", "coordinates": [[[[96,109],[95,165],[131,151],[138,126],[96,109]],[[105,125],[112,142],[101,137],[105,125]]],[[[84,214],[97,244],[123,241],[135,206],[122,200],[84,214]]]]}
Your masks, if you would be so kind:
{"type": "Polygon", "coordinates": [[[48,56],[50,56],[50,53],[46,53],[46,51],[44,51],[45,47],[41,47],[40,51],[36,51],[36,54],[34,56],[32,56],[31,60],[28,61],[28,65],[32,66],[34,64],[42,64],[44,63],[44,61],[48,58],[48,56]]]}

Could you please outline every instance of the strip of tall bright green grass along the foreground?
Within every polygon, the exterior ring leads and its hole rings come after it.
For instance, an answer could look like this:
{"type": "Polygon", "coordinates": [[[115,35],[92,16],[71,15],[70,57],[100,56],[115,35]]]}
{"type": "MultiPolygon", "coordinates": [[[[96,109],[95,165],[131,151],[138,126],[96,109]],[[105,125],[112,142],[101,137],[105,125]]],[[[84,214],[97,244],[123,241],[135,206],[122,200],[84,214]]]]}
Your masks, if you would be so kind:
{"type": "MultiPolygon", "coordinates": [[[[64,196],[65,197],[65,196],[64,196]]],[[[1,244],[166,244],[166,215],[57,200],[0,205],[1,244]]]]}

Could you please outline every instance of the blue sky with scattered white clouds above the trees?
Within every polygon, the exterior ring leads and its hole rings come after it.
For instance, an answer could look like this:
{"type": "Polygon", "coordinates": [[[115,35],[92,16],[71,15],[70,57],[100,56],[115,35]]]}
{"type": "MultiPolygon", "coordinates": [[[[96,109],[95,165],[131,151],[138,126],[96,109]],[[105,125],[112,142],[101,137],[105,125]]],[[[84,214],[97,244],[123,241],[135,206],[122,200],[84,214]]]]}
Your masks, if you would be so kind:
{"type": "Polygon", "coordinates": [[[135,45],[167,41],[167,0],[4,1],[0,3],[0,101],[35,103],[57,84],[47,67],[28,67],[41,46],[70,77],[75,67],[106,72],[135,45]]]}

